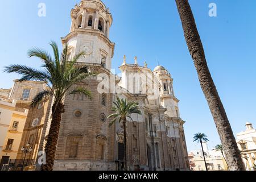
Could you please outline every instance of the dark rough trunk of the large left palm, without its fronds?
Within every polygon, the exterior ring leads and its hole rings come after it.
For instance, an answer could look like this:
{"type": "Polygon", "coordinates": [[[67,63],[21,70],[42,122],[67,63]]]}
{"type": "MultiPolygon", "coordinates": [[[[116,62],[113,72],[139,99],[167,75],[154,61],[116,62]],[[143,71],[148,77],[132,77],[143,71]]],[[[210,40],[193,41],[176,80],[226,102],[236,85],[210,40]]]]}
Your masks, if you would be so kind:
{"type": "Polygon", "coordinates": [[[46,164],[42,166],[42,171],[53,170],[57,140],[59,138],[61,116],[63,112],[64,112],[64,105],[61,103],[56,104],[55,102],[55,104],[53,104],[52,106],[52,121],[51,121],[51,127],[49,129],[49,134],[47,137],[47,143],[45,148],[46,164]]]}

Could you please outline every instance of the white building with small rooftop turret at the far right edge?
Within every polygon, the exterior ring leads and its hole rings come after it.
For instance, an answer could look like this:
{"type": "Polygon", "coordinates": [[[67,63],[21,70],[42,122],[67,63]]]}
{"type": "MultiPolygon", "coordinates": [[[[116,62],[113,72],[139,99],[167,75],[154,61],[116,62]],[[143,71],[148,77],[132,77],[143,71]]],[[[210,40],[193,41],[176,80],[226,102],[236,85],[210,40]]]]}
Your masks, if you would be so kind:
{"type": "Polygon", "coordinates": [[[241,151],[246,170],[255,170],[256,165],[256,130],[249,122],[245,124],[246,130],[237,134],[237,145],[241,151]]]}

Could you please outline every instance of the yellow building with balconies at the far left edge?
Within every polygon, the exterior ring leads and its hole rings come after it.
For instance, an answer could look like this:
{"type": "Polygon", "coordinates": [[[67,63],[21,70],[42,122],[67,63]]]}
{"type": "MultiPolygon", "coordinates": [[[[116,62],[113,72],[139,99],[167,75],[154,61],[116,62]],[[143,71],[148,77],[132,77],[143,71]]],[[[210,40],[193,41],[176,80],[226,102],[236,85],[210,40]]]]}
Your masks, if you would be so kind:
{"type": "Polygon", "coordinates": [[[15,110],[16,100],[0,98],[0,168],[15,160],[28,110],[15,110]]]}

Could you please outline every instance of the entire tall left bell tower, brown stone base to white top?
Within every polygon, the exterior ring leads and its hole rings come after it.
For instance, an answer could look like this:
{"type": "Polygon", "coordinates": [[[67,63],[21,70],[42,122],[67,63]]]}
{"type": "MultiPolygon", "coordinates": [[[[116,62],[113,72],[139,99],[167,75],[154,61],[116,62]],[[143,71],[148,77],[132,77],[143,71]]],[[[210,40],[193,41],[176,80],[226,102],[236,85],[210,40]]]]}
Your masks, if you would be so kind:
{"type": "MultiPolygon", "coordinates": [[[[110,68],[115,46],[109,40],[112,25],[109,9],[100,0],[82,0],[71,10],[71,18],[71,30],[61,39],[63,46],[68,47],[68,55],[84,51],[77,65],[104,73],[102,79],[108,80],[112,76],[110,68]]],[[[54,170],[116,169],[114,126],[109,127],[107,118],[112,114],[113,94],[100,92],[105,86],[99,86],[100,82],[98,76],[91,76],[73,85],[89,90],[92,99],[80,94],[65,97],[54,170]]]]}

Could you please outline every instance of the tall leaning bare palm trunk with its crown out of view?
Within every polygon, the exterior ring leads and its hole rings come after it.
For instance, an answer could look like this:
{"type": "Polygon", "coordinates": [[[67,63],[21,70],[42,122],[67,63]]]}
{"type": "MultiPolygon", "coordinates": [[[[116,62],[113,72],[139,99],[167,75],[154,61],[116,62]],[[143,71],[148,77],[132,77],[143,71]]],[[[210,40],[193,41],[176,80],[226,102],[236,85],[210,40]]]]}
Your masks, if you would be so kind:
{"type": "Polygon", "coordinates": [[[191,7],[188,0],[175,1],[177,4],[177,10],[180,14],[185,40],[194,61],[201,88],[203,89],[205,98],[207,99],[210,111],[213,115],[218,134],[220,135],[221,143],[224,146],[224,152],[229,167],[234,171],[245,170],[224,106],[218,96],[216,86],[214,85],[207,66],[203,44],[201,43],[199,32],[197,31],[191,7]]]}

